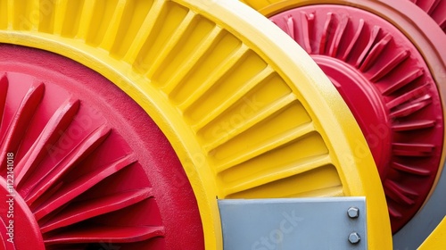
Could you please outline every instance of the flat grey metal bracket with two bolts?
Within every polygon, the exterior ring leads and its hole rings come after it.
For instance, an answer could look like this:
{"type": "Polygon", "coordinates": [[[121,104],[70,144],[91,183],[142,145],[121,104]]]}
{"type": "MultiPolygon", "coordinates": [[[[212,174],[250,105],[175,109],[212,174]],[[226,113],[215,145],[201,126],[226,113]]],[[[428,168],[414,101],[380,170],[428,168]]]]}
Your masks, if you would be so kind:
{"type": "Polygon", "coordinates": [[[367,249],[365,197],[219,200],[225,250],[367,249]]]}

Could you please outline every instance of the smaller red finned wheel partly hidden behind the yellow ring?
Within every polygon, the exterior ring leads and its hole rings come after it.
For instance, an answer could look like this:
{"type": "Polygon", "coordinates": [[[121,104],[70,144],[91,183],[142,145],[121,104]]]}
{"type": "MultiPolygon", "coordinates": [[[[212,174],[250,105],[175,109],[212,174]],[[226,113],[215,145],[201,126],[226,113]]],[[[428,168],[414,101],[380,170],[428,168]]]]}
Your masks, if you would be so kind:
{"type": "Polygon", "coordinates": [[[318,4],[271,18],[325,71],[359,122],[395,232],[425,202],[442,156],[442,104],[423,56],[381,17],[318,4]]]}

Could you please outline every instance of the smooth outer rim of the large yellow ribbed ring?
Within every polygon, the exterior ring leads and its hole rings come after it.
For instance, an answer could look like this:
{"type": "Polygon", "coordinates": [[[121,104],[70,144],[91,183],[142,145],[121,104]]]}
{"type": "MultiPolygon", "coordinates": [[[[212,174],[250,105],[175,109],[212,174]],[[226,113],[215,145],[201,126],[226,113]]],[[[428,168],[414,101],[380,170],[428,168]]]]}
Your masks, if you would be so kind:
{"type": "MultiPolygon", "coordinates": [[[[178,2],[187,2],[193,5],[193,0],[178,0],[178,2]]],[[[201,1],[204,2],[204,1],[201,1]]],[[[391,248],[392,246],[392,232],[390,227],[389,214],[387,212],[387,204],[385,202],[384,190],[378,173],[376,165],[373,161],[370,150],[367,146],[364,136],[360,132],[358,123],[354,120],[347,104],[343,102],[342,97],[335,90],[333,84],[329,81],[325,74],[321,74],[318,65],[310,60],[310,55],[304,52],[300,46],[289,36],[284,36],[284,32],[277,29],[268,19],[253,19],[256,12],[252,8],[247,8],[237,1],[211,1],[212,4],[202,4],[199,7],[191,6],[199,12],[207,14],[216,12],[216,5],[220,4],[219,15],[225,17],[225,20],[219,20],[219,25],[228,25],[232,32],[236,34],[250,34],[252,37],[245,37],[245,40],[256,39],[259,51],[257,53],[266,55],[272,62],[277,65],[277,71],[282,71],[294,84],[302,81],[301,76],[307,79],[314,79],[309,88],[297,88],[301,96],[317,96],[319,99],[312,99],[311,104],[304,104],[307,108],[317,108],[326,105],[332,110],[332,113],[325,113],[325,123],[320,124],[321,128],[328,130],[326,134],[330,134],[331,138],[323,135],[329,150],[335,152],[335,155],[342,155],[337,161],[343,165],[345,172],[342,176],[350,175],[351,179],[356,179],[356,184],[352,185],[348,190],[347,196],[364,196],[368,194],[368,247],[375,248],[391,248]],[[241,25],[238,19],[232,18],[237,16],[242,17],[244,22],[252,24],[251,26],[241,25]],[[252,27],[257,29],[252,29],[252,27]],[[274,43],[274,44],[271,44],[274,43]],[[271,50],[272,47],[279,47],[280,50],[271,50]],[[287,52],[293,51],[293,56],[287,52]],[[307,60],[305,60],[307,59],[307,60]],[[306,63],[301,63],[306,62],[306,63]],[[311,62],[311,63],[310,63],[311,62]],[[293,69],[295,65],[299,65],[300,71],[293,69]],[[337,131],[345,131],[345,133],[338,134],[337,131]],[[349,148],[351,151],[346,152],[349,148]],[[369,164],[369,162],[373,162],[369,164]],[[373,165],[373,166],[372,166],[373,165]],[[371,169],[370,167],[374,167],[371,169]]],[[[215,21],[219,19],[217,16],[211,17],[215,21]]],[[[263,56],[265,57],[265,56],[263,56]]],[[[302,98],[303,99],[303,98],[302,98]]],[[[320,113],[319,113],[320,114],[320,113]]],[[[320,128],[318,130],[321,130],[320,128]]],[[[345,183],[345,179],[343,179],[345,183]]]]}

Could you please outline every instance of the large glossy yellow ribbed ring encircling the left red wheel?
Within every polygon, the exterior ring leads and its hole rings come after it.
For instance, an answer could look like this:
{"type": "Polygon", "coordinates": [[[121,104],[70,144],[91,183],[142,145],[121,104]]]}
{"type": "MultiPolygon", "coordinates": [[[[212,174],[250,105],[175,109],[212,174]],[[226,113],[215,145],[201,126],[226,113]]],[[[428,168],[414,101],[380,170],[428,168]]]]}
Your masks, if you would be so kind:
{"type": "Polygon", "coordinates": [[[347,105],[310,56],[251,8],[0,0],[0,10],[0,42],[87,65],[160,126],[194,188],[206,249],[222,249],[217,197],[367,196],[369,249],[390,246],[376,166],[347,105]]]}

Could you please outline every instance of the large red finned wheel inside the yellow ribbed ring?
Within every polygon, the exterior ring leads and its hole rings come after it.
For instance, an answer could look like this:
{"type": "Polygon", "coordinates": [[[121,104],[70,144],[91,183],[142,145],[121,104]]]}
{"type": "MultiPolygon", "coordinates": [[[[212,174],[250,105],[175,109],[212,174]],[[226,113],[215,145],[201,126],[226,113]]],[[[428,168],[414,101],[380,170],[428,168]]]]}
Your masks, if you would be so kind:
{"type": "Polygon", "coordinates": [[[186,174],[133,100],[60,55],[0,54],[3,249],[203,249],[186,174]]]}

